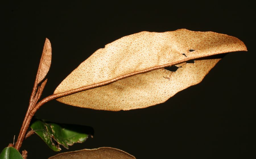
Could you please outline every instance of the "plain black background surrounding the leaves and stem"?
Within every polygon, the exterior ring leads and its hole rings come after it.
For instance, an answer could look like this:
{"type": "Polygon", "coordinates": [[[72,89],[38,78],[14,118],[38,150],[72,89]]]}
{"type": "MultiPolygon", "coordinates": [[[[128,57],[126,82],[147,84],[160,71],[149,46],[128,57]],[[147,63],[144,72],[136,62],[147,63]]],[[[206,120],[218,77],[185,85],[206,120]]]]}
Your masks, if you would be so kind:
{"type": "MultiPolygon", "coordinates": [[[[98,111],[50,101],[36,116],[88,125],[94,138],[69,150],[114,147],[136,158],[251,158],[255,156],[255,6],[240,1],[170,3],[10,2],[1,30],[0,149],[13,142],[26,113],[44,40],[52,64],[42,97],[94,51],[141,31],[179,28],[238,37],[247,52],[226,55],[198,85],[163,104],[130,111],[98,111]]],[[[36,135],[24,141],[28,158],[57,154],[36,135]]]]}

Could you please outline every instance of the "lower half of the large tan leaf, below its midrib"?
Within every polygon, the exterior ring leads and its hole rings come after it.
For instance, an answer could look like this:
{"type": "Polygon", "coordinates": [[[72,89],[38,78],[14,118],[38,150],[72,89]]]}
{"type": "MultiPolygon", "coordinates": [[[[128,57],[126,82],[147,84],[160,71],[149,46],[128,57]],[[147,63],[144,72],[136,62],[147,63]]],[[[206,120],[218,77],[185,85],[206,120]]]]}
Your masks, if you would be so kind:
{"type": "Polygon", "coordinates": [[[164,68],[152,70],[62,97],[58,101],[74,106],[112,111],[145,108],[165,102],[177,92],[201,82],[219,60],[182,63],[182,67],[176,72],[164,68]]]}

